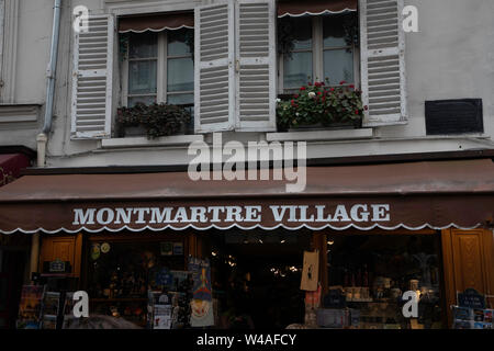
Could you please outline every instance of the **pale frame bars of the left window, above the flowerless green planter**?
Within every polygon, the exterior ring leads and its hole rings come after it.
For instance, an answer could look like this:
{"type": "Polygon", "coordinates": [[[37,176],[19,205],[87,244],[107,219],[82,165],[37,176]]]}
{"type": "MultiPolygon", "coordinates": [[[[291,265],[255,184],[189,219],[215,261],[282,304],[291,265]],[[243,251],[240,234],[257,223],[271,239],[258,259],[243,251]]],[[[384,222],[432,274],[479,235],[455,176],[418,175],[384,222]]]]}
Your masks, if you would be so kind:
{"type": "MultiPolygon", "coordinates": [[[[130,53],[131,41],[127,42],[126,52],[130,53]]],[[[187,58],[193,57],[193,54],[190,55],[176,55],[168,56],[168,31],[161,31],[157,33],[157,78],[156,78],[156,102],[157,103],[167,103],[169,94],[194,94],[194,90],[187,91],[173,91],[168,92],[168,59],[173,58],[187,58]]],[[[145,59],[136,59],[136,60],[150,60],[153,58],[145,59]]],[[[128,93],[128,67],[130,63],[133,59],[130,59],[128,55],[125,56],[122,63],[122,106],[128,106],[128,99],[132,97],[148,97],[151,94],[130,94],[128,93]]],[[[193,102],[191,103],[193,104],[193,102]]]]}

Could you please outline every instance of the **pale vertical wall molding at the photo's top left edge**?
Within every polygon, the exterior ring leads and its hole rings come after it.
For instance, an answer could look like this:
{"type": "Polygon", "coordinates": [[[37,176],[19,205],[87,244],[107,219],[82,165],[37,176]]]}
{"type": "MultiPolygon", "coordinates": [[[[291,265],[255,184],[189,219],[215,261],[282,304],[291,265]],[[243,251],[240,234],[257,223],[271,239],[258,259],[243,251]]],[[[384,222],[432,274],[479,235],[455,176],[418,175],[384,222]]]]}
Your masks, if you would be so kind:
{"type": "MultiPolygon", "coordinates": [[[[4,1],[3,47],[1,61],[0,102],[14,103],[15,67],[18,61],[19,0],[4,1]]],[[[2,1],[2,2],[3,2],[2,1]]]]}

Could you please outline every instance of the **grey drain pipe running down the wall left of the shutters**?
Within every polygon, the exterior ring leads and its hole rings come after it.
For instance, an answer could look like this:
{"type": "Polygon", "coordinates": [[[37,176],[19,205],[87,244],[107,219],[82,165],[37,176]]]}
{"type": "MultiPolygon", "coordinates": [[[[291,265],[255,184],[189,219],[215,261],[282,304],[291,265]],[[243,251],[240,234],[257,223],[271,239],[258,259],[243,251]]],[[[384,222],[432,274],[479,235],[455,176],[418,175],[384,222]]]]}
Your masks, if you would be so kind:
{"type": "MultiPolygon", "coordinates": [[[[45,105],[45,122],[43,131],[36,137],[37,141],[37,167],[45,167],[46,162],[46,144],[48,135],[52,131],[53,121],[53,102],[55,95],[55,75],[57,71],[57,55],[58,55],[58,36],[60,33],[60,7],[61,0],[55,0],[53,7],[53,32],[52,32],[52,49],[49,52],[49,66],[47,70],[46,84],[46,105],[45,105]]],[[[40,261],[40,234],[33,234],[31,240],[31,264],[30,279],[32,273],[38,271],[40,261]]]]}

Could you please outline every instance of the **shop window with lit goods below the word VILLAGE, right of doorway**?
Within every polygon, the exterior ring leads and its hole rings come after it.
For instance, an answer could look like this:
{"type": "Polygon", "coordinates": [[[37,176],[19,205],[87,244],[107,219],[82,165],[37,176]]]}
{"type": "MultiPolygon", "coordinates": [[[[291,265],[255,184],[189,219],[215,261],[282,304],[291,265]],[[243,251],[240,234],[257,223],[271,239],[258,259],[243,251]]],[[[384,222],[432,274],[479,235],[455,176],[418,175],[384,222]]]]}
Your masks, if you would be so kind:
{"type": "MultiPolygon", "coordinates": [[[[343,292],[347,326],[359,329],[445,327],[438,236],[345,235],[328,239],[328,288],[343,292]],[[419,296],[418,318],[405,318],[402,295],[419,296]]],[[[325,299],[323,304],[330,302],[325,299]]]]}

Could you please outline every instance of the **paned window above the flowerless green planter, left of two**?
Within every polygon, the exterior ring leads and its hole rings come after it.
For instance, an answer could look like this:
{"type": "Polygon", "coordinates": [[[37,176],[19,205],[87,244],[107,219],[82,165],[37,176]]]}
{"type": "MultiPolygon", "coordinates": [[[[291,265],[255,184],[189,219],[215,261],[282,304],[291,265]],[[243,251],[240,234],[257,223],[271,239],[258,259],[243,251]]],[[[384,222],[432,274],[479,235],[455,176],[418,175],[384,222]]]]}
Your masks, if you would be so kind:
{"type": "Polygon", "coordinates": [[[191,105],[194,100],[191,38],[190,29],[132,33],[123,69],[123,103],[191,105]]]}

